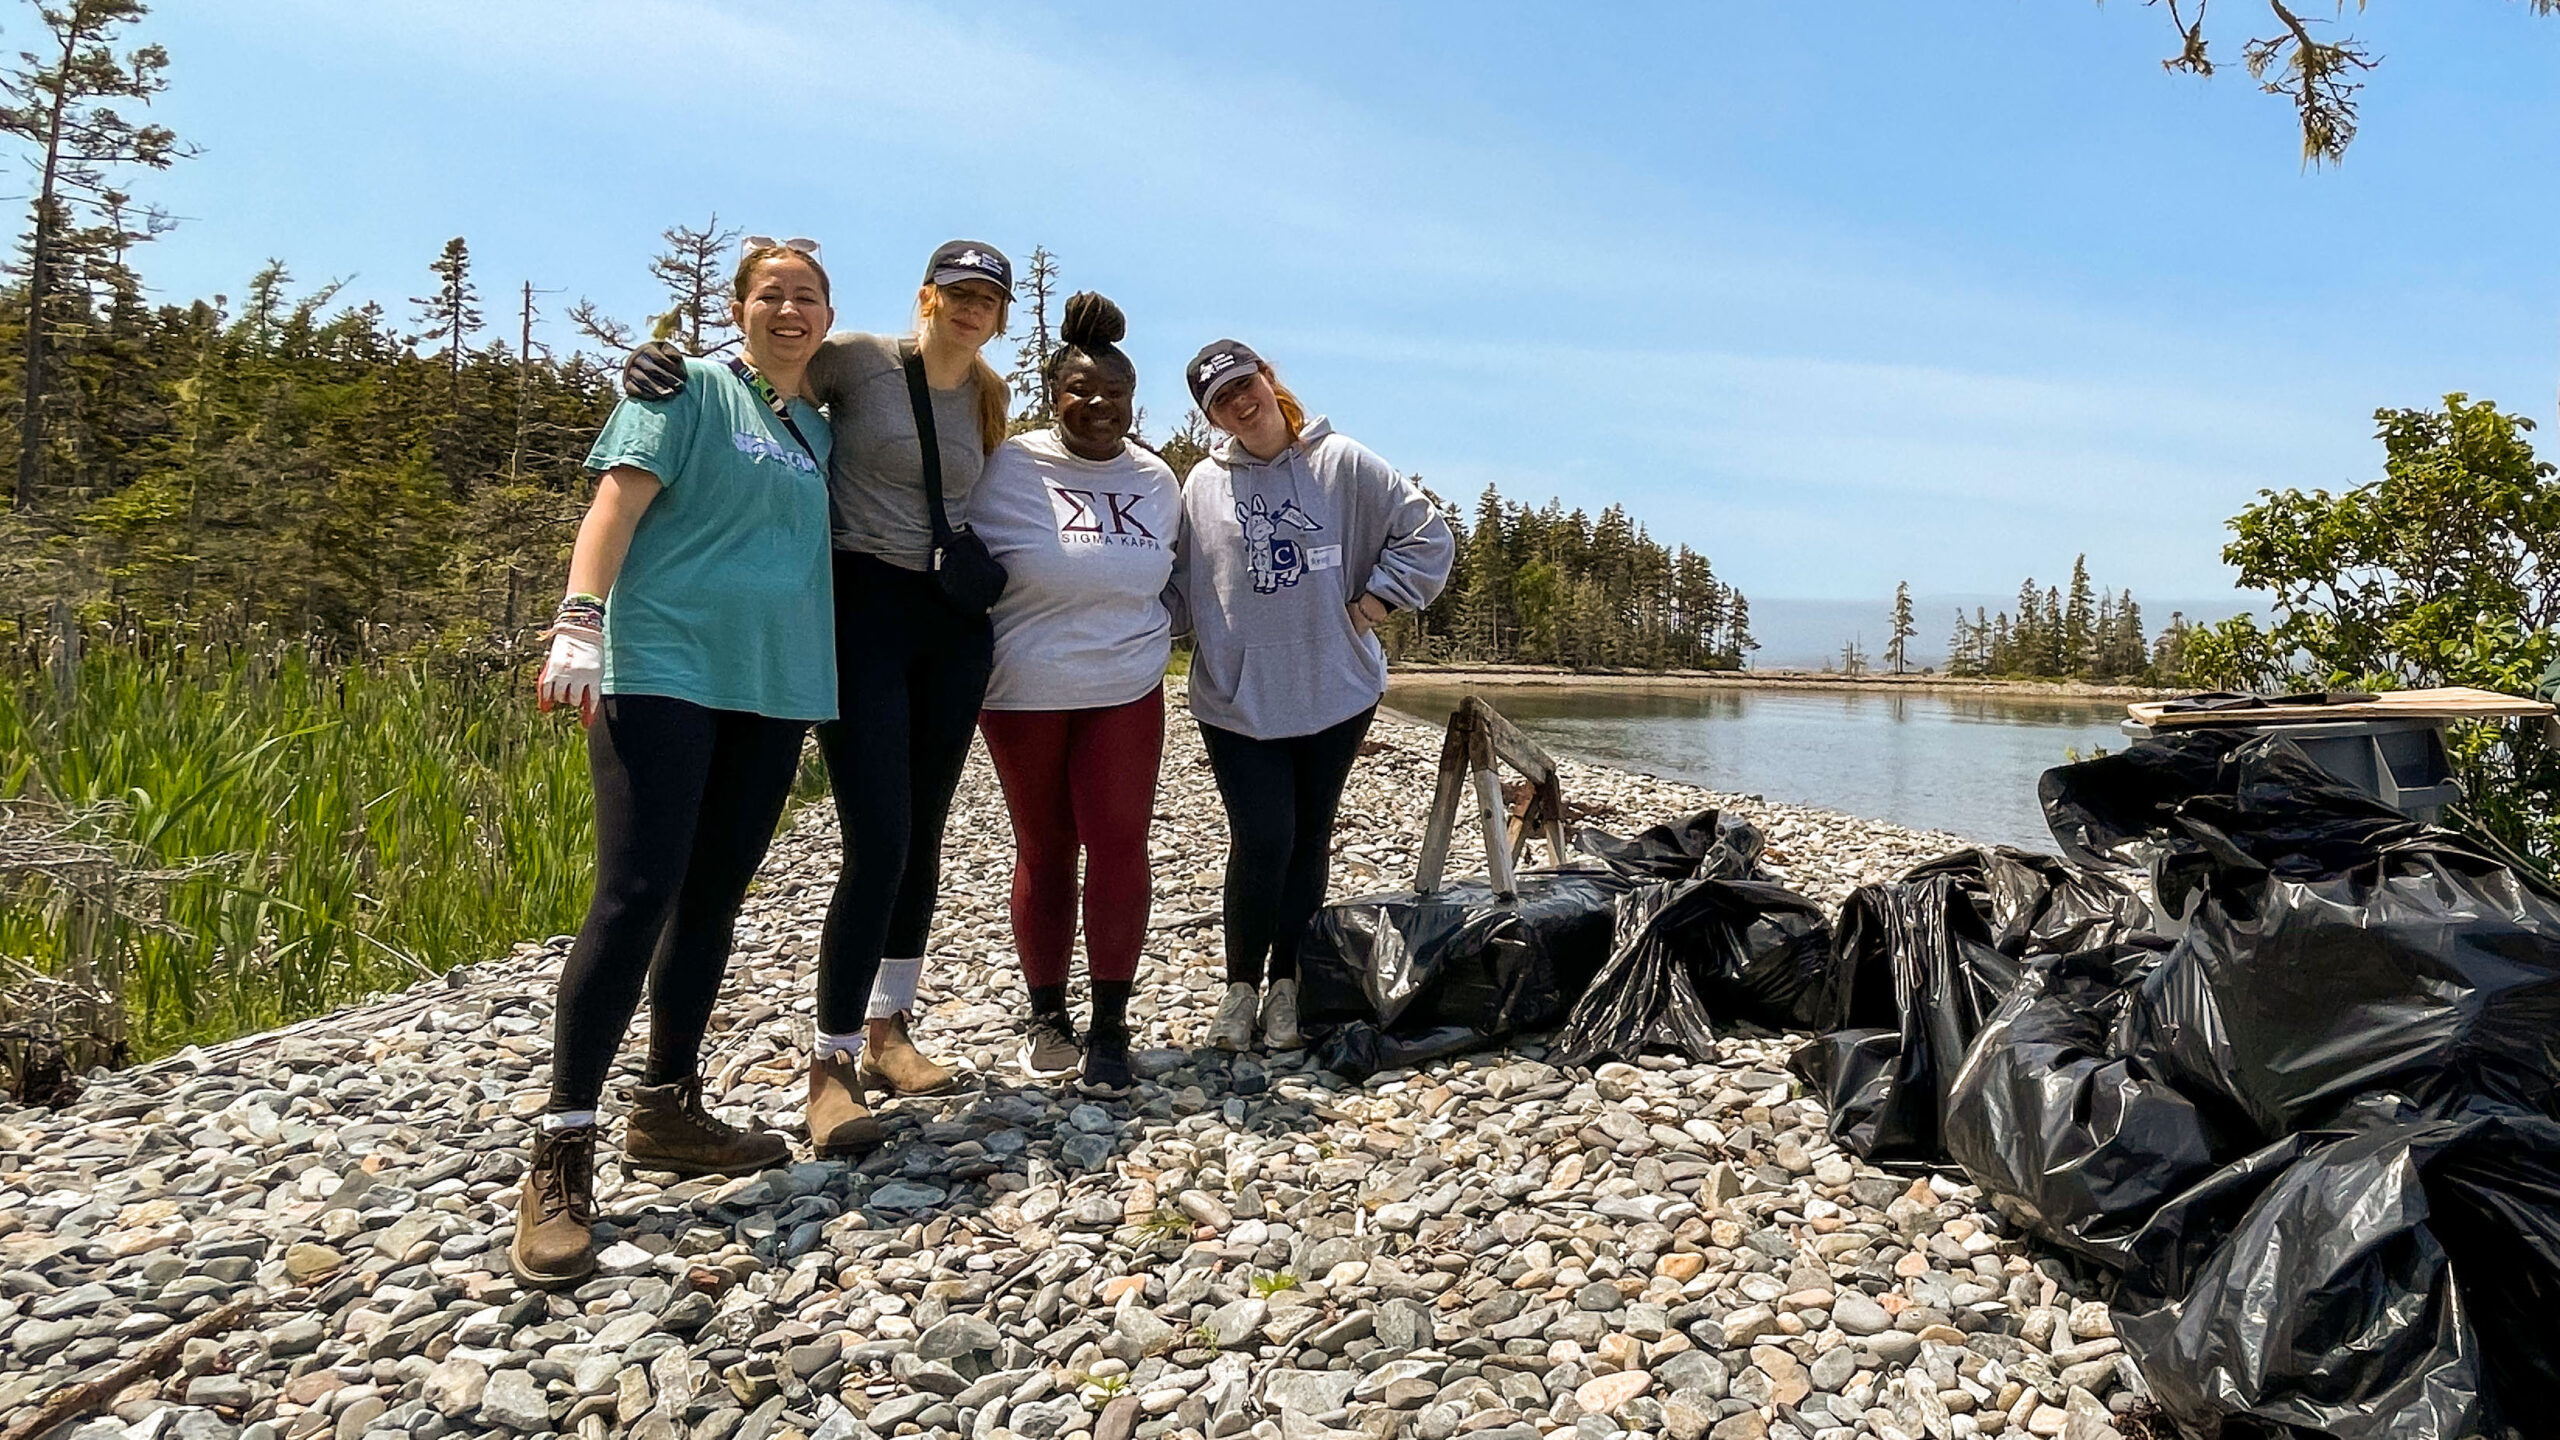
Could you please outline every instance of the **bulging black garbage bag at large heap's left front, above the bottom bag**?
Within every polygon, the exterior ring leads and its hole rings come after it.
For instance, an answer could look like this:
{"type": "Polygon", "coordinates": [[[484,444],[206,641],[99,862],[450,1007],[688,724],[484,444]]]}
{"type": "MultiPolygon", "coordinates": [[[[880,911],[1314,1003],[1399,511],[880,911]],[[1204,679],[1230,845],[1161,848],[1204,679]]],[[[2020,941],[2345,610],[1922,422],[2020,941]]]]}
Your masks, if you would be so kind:
{"type": "Polygon", "coordinates": [[[2153,1209],[2240,1150],[2140,1061],[2107,1053],[2158,958],[2109,945],[2033,961],[1948,1089],[1948,1156],[2007,1215],[2102,1266],[2122,1266],[2153,1209]]]}

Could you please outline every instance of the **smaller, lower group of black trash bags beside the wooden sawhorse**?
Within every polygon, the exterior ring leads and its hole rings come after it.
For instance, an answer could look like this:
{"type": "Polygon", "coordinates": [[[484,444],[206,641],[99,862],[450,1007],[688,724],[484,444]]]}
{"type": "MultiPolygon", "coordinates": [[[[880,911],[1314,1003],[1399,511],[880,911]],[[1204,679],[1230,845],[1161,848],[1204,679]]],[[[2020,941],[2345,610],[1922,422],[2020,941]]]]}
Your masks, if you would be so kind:
{"type": "Polygon", "coordinates": [[[1467,879],[1326,904],[1298,948],[1316,1063],[1367,1079],[1539,1030],[1559,1063],[1710,1058],[1710,1017],[1838,1020],[1830,922],[1761,871],[1748,822],[1702,810],[1631,840],[1585,828],[1572,848],[1508,902],[1467,879]]]}

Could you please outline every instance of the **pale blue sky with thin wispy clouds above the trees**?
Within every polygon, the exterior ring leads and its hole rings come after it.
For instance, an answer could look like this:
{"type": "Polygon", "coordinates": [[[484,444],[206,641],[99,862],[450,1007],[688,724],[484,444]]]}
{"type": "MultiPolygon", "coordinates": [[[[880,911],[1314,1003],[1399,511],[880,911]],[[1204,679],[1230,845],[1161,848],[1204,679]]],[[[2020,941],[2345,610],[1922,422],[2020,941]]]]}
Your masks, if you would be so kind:
{"type": "Polygon", "coordinates": [[[2212,597],[2260,487],[2373,477],[2373,407],[2552,423],[2560,20],[2350,28],[2386,64],[2307,174],[2240,31],[2171,77],[2130,0],[164,0],[202,156],[136,190],[187,220],[164,297],[274,256],[394,313],[456,233],[492,310],[640,318],[717,210],[822,238],[855,328],[942,238],[1037,241],[1129,310],[1157,430],[1239,336],[1441,495],[1623,502],[1756,602],[2076,551],[2212,597]]]}

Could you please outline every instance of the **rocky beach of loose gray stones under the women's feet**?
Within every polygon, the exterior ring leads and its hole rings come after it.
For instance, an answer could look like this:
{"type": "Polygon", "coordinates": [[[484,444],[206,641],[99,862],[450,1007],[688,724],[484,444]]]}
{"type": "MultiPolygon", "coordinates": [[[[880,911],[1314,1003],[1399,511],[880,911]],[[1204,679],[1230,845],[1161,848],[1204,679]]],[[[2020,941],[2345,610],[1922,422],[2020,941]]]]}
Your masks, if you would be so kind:
{"type": "MultiPolygon", "coordinates": [[[[1431,797],[1439,735],[1372,738],[1336,897],[1411,879],[1431,797]]],[[[1733,810],[1825,907],[1961,846],[1572,761],[1564,794],[1615,833],[1733,810]]],[[[804,807],[748,902],[707,1048],[730,1120],[799,1120],[835,848],[804,807]]],[[[1152,856],[1142,1084],[1029,1081],[980,751],[916,1022],[975,1074],[863,1163],[666,1184],[607,1130],[604,1271],[561,1294],[504,1250],[566,938],[0,1112],[0,1427],[74,1384],[105,1394],[49,1432],[82,1440],[2107,1440],[2135,1409],[2071,1266],[1961,1176],[1825,1140],[1800,1035],[1367,1084],[1190,1051],[1224,822],[1180,715],[1152,856]]]]}

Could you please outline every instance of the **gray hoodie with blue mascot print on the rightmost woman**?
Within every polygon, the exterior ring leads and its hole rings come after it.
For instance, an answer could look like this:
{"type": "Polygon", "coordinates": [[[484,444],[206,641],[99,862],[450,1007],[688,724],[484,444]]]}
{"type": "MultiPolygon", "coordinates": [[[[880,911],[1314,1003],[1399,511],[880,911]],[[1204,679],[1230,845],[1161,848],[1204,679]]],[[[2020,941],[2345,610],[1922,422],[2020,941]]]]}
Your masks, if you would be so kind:
{"type": "Polygon", "coordinates": [[[1352,628],[1349,605],[1375,594],[1421,610],[1454,559],[1421,487],[1321,418],[1267,461],[1221,441],[1183,482],[1172,582],[1196,643],[1190,712],[1280,740],[1377,705],[1388,653],[1352,628]]]}

